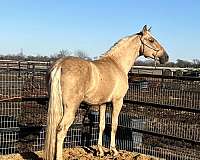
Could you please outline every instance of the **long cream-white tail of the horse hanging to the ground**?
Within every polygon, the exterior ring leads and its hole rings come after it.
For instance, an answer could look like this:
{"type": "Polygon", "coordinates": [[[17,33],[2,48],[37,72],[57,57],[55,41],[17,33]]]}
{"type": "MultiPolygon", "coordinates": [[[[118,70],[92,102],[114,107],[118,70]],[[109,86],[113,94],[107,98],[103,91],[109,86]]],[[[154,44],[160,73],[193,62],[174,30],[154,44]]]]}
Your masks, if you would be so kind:
{"type": "Polygon", "coordinates": [[[54,160],[56,154],[56,131],[63,117],[63,104],[61,92],[61,67],[54,65],[50,72],[50,97],[45,139],[45,160],[54,160]]]}

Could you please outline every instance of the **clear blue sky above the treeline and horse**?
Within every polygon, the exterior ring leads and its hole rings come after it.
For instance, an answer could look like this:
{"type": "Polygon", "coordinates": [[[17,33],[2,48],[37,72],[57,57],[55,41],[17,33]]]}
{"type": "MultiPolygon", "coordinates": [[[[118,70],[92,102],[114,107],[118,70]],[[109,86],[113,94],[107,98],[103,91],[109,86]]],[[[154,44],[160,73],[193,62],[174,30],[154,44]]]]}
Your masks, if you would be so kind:
{"type": "Polygon", "coordinates": [[[0,54],[92,58],[145,24],[170,61],[200,59],[199,0],[0,0],[0,54]]]}

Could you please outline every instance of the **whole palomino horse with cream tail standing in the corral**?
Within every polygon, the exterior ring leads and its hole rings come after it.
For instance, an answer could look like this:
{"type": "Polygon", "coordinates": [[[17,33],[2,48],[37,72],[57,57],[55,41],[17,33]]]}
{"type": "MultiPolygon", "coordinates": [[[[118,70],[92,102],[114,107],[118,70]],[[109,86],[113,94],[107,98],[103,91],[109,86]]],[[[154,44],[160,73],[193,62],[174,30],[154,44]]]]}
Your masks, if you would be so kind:
{"type": "Polygon", "coordinates": [[[145,25],[140,33],[122,38],[100,59],[59,59],[50,70],[50,99],[45,143],[46,160],[62,160],[63,141],[81,102],[100,108],[98,153],[103,156],[106,102],[113,103],[110,151],[118,155],[115,134],[123,97],[128,90],[128,71],[140,55],[168,61],[164,48],[145,25]]]}

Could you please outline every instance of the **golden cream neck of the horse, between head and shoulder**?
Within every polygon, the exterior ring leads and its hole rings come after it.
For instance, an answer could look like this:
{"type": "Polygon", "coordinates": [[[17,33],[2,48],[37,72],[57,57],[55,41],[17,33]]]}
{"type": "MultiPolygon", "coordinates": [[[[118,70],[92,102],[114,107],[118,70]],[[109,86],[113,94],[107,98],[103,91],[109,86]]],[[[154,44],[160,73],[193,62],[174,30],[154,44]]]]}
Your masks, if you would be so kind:
{"type": "MultiPolygon", "coordinates": [[[[140,39],[138,36],[130,37],[127,42],[117,47],[117,49],[111,50],[108,56],[113,60],[126,74],[133,66],[136,58],[139,56],[140,39]]],[[[106,58],[105,57],[105,58],[106,58]]]]}

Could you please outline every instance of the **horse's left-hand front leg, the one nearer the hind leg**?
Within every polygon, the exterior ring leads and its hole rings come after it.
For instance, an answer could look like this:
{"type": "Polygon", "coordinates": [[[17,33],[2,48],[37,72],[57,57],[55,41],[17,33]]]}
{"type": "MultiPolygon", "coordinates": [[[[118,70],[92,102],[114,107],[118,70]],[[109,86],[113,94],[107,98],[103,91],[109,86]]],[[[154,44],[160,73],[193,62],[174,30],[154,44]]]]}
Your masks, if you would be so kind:
{"type": "Polygon", "coordinates": [[[100,117],[99,117],[99,139],[98,139],[98,151],[99,151],[99,156],[102,157],[104,156],[104,151],[102,148],[102,136],[103,132],[105,129],[105,112],[106,112],[106,104],[103,104],[99,106],[99,112],[100,112],[100,117]]]}

